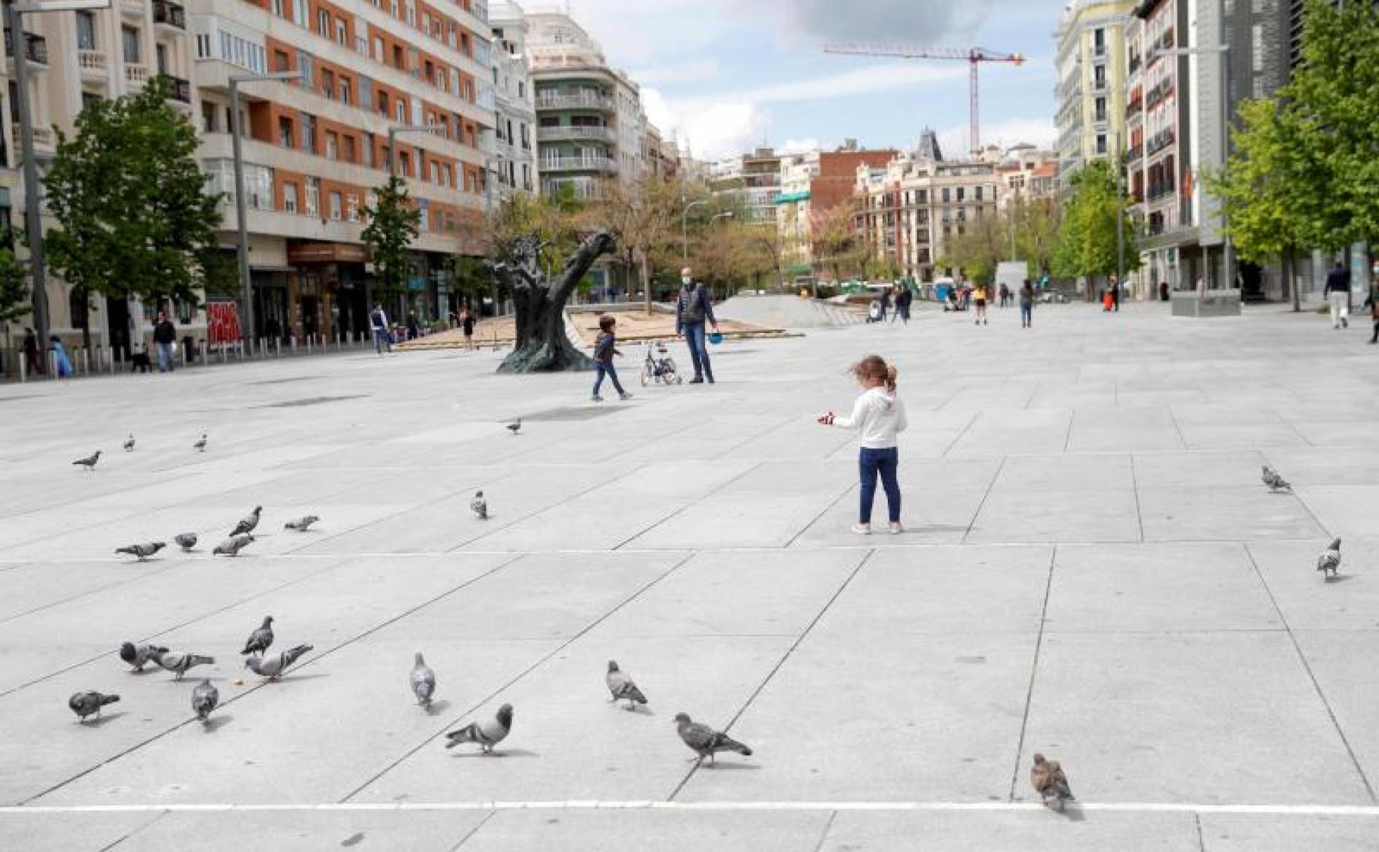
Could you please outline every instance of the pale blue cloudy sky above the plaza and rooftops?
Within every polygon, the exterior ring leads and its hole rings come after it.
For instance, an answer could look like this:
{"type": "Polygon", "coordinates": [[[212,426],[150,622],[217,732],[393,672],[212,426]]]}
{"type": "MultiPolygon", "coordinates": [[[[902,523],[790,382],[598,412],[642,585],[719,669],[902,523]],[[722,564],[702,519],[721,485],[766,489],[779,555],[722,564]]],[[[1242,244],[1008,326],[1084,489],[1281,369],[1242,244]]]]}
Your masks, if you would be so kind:
{"type": "MultiPolygon", "coordinates": [[[[823,54],[827,41],[1018,52],[982,66],[983,142],[1054,141],[1052,33],[1065,0],[568,0],[647,114],[696,157],[834,146],[912,148],[925,127],[967,148],[965,62],[823,54]]],[[[528,10],[567,7],[530,0],[528,10]]]]}

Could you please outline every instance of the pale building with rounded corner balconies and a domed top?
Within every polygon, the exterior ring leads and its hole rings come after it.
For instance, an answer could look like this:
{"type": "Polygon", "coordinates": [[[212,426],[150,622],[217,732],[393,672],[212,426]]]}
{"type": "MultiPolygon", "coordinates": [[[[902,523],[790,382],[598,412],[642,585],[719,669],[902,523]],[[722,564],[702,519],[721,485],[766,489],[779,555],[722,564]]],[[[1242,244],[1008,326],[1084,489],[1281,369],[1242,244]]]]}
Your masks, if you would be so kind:
{"type": "Polygon", "coordinates": [[[570,15],[531,12],[527,22],[542,192],[590,199],[603,181],[637,181],[645,134],[637,84],[570,15]]]}

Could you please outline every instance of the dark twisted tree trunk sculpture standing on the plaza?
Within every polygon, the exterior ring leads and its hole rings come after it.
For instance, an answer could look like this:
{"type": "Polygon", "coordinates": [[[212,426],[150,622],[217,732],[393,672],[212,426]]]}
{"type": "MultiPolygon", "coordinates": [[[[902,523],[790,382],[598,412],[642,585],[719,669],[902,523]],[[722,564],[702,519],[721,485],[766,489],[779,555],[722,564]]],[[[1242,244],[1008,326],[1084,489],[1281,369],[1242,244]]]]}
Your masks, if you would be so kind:
{"type": "Polygon", "coordinates": [[[492,272],[513,294],[517,341],[498,372],[560,372],[593,369],[593,360],[570,345],[565,336],[565,302],[598,255],[614,251],[614,239],[598,232],[585,240],[554,283],[541,273],[541,251],[535,236],[517,241],[507,261],[492,272]]]}

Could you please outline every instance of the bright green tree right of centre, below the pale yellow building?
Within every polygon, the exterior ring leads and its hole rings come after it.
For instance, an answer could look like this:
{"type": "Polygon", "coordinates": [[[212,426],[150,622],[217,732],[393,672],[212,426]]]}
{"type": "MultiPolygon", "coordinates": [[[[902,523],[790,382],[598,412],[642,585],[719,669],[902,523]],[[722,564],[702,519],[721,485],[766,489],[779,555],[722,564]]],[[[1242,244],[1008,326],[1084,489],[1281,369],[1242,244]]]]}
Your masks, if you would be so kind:
{"type": "Polygon", "coordinates": [[[1117,199],[1111,165],[1094,160],[1071,176],[1073,197],[1063,208],[1058,227],[1058,244],[1052,252],[1054,273],[1063,277],[1089,278],[1116,274],[1116,223],[1123,219],[1124,248],[1121,263],[1125,272],[1139,269],[1139,248],[1135,227],[1125,208],[1125,190],[1117,199]]]}

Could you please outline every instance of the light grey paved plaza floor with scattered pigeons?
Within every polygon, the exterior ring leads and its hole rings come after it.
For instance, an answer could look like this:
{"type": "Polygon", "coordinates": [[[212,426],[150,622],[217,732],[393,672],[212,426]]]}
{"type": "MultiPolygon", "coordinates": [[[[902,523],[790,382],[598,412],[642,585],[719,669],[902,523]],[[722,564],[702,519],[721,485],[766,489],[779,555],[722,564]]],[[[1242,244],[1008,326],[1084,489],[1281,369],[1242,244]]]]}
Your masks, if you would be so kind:
{"type": "Polygon", "coordinates": [[[630,403],[492,352],[0,387],[0,849],[1379,848],[1368,328],[992,316],[729,342],[717,385],[630,403]],[[855,436],[815,423],[872,352],[910,419],[898,536],[849,532],[855,436]],[[265,615],[314,645],[279,682],[239,655],[265,615]],[[125,640],[217,663],[131,674],[125,640]],[[80,725],[81,689],[121,700],[80,725]],[[502,703],[501,757],[443,747],[502,703]],[[754,754],[695,768],[678,711],[754,754]],[[1080,808],[1036,804],[1036,751],[1080,808]]]}

